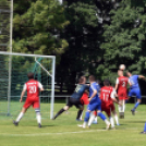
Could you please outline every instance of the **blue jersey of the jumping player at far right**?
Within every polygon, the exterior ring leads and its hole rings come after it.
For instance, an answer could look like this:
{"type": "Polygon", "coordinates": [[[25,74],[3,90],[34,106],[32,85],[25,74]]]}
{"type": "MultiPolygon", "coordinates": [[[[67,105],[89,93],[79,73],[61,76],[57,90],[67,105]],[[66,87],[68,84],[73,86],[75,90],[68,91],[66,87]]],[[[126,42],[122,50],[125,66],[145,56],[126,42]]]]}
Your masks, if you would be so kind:
{"type": "Polygon", "coordinates": [[[138,75],[132,75],[130,78],[129,78],[129,82],[132,84],[131,88],[139,88],[139,85],[138,85],[138,75]]]}

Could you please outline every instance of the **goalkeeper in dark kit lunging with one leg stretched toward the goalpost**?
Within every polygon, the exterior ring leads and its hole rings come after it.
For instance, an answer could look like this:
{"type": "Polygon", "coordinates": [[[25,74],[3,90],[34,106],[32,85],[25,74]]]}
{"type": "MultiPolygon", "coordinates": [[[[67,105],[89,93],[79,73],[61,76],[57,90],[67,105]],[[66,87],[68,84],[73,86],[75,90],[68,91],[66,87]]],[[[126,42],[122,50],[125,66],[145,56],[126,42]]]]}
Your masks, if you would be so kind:
{"type": "Polygon", "coordinates": [[[66,106],[64,106],[64,108],[59,110],[58,113],[52,118],[52,120],[54,120],[57,117],[59,117],[62,112],[69,110],[72,106],[75,106],[77,109],[80,109],[77,112],[76,119],[78,119],[81,117],[82,111],[84,109],[83,105],[81,102],[81,98],[83,96],[83,93],[89,88],[89,86],[85,85],[85,83],[86,83],[86,77],[81,76],[78,80],[78,84],[76,85],[74,93],[71,95],[66,106]]]}

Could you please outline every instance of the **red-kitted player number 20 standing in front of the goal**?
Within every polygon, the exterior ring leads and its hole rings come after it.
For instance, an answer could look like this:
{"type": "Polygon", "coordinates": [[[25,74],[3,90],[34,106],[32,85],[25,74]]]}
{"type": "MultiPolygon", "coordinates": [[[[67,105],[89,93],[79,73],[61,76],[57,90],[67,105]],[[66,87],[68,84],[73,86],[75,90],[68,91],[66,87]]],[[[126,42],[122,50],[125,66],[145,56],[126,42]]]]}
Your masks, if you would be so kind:
{"type": "Polygon", "coordinates": [[[40,104],[39,104],[39,90],[42,92],[44,87],[42,85],[34,80],[34,74],[28,73],[28,82],[24,84],[23,92],[21,94],[20,102],[22,102],[23,97],[25,95],[25,92],[27,92],[27,98],[23,106],[23,109],[15,121],[13,121],[14,125],[19,125],[20,120],[23,118],[24,113],[27,111],[27,109],[33,106],[33,108],[36,111],[36,118],[38,122],[38,126],[41,127],[41,117],[40,117],[40,104]]]}

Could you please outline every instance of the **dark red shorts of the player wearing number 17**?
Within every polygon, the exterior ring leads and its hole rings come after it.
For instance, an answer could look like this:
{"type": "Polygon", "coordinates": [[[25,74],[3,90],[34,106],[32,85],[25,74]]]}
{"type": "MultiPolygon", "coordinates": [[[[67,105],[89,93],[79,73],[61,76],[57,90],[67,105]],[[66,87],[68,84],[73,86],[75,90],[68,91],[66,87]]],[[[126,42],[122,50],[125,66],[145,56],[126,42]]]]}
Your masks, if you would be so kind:
{"type": "Polygon", "coordinates": [[[114,111],[115,107],[113,104],[110,105],[101,105],[101,111],[105,111],[108,117],[111,115],[111,111],[114,111]]]}

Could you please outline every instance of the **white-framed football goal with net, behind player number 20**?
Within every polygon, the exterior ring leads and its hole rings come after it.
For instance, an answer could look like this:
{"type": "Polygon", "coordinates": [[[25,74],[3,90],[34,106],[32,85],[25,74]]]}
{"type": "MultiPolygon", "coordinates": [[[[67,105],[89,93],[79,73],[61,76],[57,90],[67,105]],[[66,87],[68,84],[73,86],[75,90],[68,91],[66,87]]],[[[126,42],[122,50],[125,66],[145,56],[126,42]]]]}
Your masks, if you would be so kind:
{"type": "MultiPolygon", "coordinates": [[[[27,73],[33,72],[35,80],[39,81],[45,90],[40,93],[40,110],[42,118],[53,117],[54,100],[54,64],[53,56],[37,56],[24,53],[10,53],[0,51],[0,117],[15,117],[24,104],[20,104],[23,85],[27,82],[27,73]]],[[[29,108],[26,117],[35,117],[29,108]]]]}

